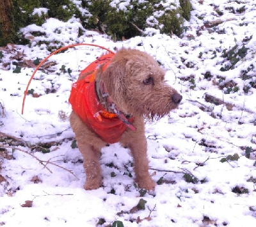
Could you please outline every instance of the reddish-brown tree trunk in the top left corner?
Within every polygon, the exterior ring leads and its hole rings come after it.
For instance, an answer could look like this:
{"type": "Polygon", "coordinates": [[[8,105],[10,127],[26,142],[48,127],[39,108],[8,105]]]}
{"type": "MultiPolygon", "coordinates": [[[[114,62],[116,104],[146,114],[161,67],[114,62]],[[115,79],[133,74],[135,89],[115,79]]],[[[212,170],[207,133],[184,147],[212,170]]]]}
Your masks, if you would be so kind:
{"type": "Polygon", "coordinates": [[[15,37],[13,29],[12,0],[0,1],[0,46],[12,42],[15,37]]]}

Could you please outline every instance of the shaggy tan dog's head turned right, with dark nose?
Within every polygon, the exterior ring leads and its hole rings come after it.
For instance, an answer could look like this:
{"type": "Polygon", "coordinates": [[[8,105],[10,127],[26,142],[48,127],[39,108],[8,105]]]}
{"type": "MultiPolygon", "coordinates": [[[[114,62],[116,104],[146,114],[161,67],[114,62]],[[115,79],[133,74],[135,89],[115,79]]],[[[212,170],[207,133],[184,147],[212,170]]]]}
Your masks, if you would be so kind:
{"type": "Polygon", "coordinates": [[[182,100],[164,81],[164,71],[154,58],[138,50],[116,52],[101,79],[109,97],[125,114],[153,120],[170,113],[182,100]]]}

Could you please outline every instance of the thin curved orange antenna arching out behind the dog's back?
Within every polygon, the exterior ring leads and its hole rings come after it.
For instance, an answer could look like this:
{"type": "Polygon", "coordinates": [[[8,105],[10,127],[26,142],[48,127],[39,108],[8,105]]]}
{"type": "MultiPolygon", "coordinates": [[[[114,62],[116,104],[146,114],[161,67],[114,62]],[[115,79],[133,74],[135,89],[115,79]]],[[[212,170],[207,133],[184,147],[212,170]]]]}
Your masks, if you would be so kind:
{"type": "Polygon", "coordinates": [[[65,49],[68,49],[70,47],[76,47],[78,45],[90,45],[90,46],[93,46],[93,47],[100,47],[101,49],[104,49],[112,54],[115,54],[113,51],[110,51],[109,49],[107,49],[106,47],[102,47],[100,45],[96,45],[96,44],[90,44],[90,43],[76,43],[76,44],[71,44],[71,45],[67,45],[65,47],[61,47],[60,49],[52,52],[51,54],[49,54],[43,61],[40,62],[40,64],[35,68],[35,71],[33,72],[33,74],[31,75],[29,81],[28,81],[28,84],[27,84],[27,87],[26,87],[26,90],[24,91],[24,97],[23,97],[23,102],[22,102],[22,109],[21,109],[21,114],[23,114],[24,112],[24,105],[25,105],[25,100],[26,100],[26,95],[28,94],[28,88],[29,88],[29,84],[31,83],[34,75],[36,74],[36,71],[38,70],[38,68],[40,68],[44,63],[45,61],[47,61],[48,58],[50,58],[52,55],[54,54],[57,54],[58,52],[60,51],[63,51],[65,49]]]}

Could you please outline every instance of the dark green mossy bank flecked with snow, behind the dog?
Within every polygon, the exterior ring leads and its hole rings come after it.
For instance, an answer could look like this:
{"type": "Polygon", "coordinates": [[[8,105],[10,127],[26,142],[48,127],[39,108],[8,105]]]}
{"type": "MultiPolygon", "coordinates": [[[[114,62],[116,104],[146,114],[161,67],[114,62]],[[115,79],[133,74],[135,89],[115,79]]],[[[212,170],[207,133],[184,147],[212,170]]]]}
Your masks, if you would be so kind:
{"type": "MultiPolygon", "coordinates": [[[[67,21],[75,16],[81,19],[86,29],[98,29],[115,40],[146,35],[141,31],[145,31],[147,27],[159,29],[161,33],[180,36],[183,32],[184,19],[190,19],[189,0],[180,0],[180,6],[172,4],[171,7],[168,6],[168,10],[161,4],[161,0],[134,0],[126,10],[118,8],[118,5],[116,8],[112,7],[110,3],[110,0],[83,0],[80,3],[81,7],[87,8],[90,13],[82,15],[72,0],[13,0],[13,33],[17,33],[20,27],[29,24],[41,26],[48,17],[67,21]],[[40,7],[47,8],[47,13],[32,15],[33,10],[40,7]],[[154,23],[150,24],[150,18],[154,23]]],[[[2,36],[0,30],[0,40],[2,36]]],[[[19,35],[15,35],[15,38],[12,37],[10,40],[17,42],[18,37],[21,40],[19,35]]]]}

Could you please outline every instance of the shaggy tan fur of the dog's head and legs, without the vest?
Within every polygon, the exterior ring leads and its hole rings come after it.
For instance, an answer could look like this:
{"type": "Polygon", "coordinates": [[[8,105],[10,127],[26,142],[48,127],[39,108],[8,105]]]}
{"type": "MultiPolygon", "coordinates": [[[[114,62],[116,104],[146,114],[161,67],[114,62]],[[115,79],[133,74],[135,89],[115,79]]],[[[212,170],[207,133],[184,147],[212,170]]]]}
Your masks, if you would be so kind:
{"type": "MultiPolygon", "coordinates": [[[[84,75],[79,76],[79,80],[84,75]]],[[[154,190],[156,186],[148,173],[147,140],[145,137],[145,118],[153,120],[177,108],[182,96],[164,81],[164,72],[157,62],[145,52],[121,49],[116,52],[110,65],[102,72],[99,68],[95,75],[96,90],[100,80],[104,82],[109,97],[124,114],[134,116],[132,123],[136,131],[125,130],[120,139],[122,146],[131,150],[134,159],[135,182],[138,186],[154,190]]],[[[108,103],[99,95],[102,105],[108,110],[108,103]]],[[[107,145],[95,132],[89,129],[74,111],[70,124],[76,134],[77,146],[83,155],[86,182],[84,189],[100,187],[102,181],[100,150],[107,145]]]]}

